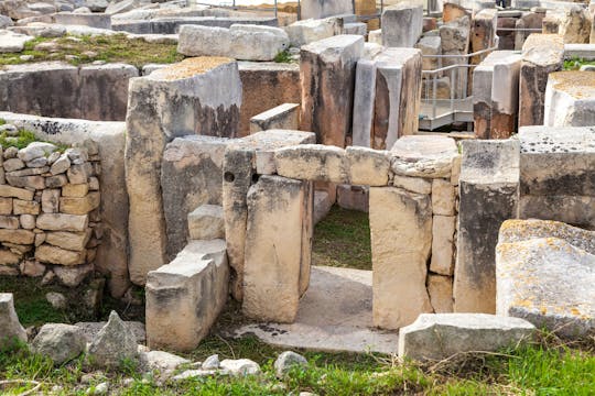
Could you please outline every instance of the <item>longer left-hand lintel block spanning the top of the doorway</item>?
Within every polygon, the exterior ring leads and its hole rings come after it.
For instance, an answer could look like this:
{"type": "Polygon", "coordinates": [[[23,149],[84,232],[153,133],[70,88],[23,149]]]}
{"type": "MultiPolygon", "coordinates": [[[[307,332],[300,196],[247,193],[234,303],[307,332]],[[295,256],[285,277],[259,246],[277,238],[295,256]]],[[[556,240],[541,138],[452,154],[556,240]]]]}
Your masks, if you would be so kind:
{"type": "Polygon", "coordinates": [[[349,183],[349,163],[345,150],[322,145],[302,144],[275,152],[274,164],[280,176],[332,183],[349,183]]]}

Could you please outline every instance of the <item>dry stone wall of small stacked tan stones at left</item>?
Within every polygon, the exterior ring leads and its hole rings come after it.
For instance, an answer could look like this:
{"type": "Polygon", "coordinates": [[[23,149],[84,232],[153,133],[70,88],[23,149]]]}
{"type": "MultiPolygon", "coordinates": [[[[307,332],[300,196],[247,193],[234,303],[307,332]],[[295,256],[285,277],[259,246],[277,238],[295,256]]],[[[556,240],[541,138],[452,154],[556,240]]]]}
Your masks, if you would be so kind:
{"type": "Polygon", "coordinates": [[[90,141],[60,148],[33,142],[2,150],[0,274],[57,277],[74,287],[94,271],[101,241],[101,164],[90,141]]]}

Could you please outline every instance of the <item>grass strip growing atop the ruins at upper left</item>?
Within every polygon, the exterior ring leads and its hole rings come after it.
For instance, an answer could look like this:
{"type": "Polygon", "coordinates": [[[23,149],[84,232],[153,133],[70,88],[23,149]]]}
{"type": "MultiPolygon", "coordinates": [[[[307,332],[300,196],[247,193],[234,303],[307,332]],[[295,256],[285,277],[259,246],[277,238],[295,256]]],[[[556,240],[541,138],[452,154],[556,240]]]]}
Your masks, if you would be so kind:
{"type": "Polygon", "coordinates": [[[143,40],[128,40],[125,34],[98,36],[65,36],[61,38],[36,37],[24,46],[21,53],[0,54],[0,68],[3,65],[20,65],[35,62],[64,61],[74,66],[88,64],[94,61],[108,63],[123,62],[137,67],[149,63],[171,64],[184,58],[177,53],[176,44],[147,43],[143,40]],[[37,44],[55,42],[58,51],[36,51],[37,44]],[[97,56],[84,54],[91,51],[97,56]],[[23,61],[21,55],[32,55],[33,59],[23,61]],[[75,58],[68,58],[74,56],[75,58]]]}

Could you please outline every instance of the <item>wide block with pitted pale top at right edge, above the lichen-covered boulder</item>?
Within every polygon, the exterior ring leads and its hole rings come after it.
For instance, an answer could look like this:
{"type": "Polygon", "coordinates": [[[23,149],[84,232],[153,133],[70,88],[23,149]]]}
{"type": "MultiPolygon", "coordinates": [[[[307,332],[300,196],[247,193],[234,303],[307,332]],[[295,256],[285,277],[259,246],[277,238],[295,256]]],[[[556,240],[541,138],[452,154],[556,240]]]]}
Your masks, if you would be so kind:
{"type": "Polygon", "coordinates": [[[593,229],[593,127],[524,127],[519,130],[519,217],[558,220],[593,229]]]}

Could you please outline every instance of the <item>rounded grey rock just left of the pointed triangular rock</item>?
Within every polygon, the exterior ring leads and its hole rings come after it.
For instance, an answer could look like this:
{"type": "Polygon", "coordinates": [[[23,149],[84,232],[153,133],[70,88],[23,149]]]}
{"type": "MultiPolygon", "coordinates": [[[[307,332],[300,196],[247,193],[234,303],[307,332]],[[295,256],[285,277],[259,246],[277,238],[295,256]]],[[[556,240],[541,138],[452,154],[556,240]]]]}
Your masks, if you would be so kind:
{"type": "Polygon", "coordinates": [[[61,365],[85,351],[86,340],[76,326],[47,323],[42,326],[31,346],[35,353],[50,358],[55,365],[61,365]]]}

